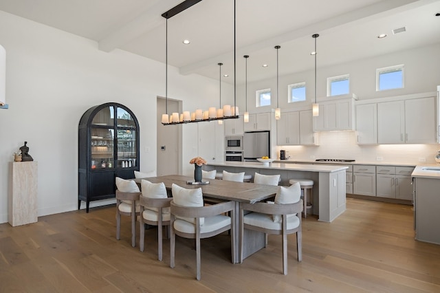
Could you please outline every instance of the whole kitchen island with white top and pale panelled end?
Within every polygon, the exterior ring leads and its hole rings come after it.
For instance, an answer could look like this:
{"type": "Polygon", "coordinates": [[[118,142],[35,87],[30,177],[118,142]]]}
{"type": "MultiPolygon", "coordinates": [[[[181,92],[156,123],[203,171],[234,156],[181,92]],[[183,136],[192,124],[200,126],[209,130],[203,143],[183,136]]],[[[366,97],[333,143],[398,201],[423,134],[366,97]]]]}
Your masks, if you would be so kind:
{"type": "Polygon", "coordinates": [[[206,171],[223,170],[264,175],[281,175],[280,185],[289,186],[290,179],[309,179],[314,181],[312,214],[318,215],[319,221],[331,222],[345,210],[345,171],[347,166],[284,164],[260,162],[216,162],[203,166],[206,171]]]}

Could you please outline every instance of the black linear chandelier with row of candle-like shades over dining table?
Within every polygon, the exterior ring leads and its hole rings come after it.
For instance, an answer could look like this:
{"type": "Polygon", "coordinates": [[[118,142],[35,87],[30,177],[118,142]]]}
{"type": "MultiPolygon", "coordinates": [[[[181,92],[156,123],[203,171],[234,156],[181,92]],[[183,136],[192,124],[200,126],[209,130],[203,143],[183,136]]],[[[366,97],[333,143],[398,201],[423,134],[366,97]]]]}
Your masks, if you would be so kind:
{"type": "MultiPolygon", "coordinates": [[[[190,8],[191,6],[199,3],[201,0],[186,0],[179,5],[171,8],[167,12],[162,14],[162,17],[166,19],[166,49],[165,49],[165,113],[162,114],[162,124],[173,125],[173,124],[186,124],[193,122],[203,122],[212,120],[225,119],[238,119],[239,118],[239,107],[236,107],[236,36],[235,36],[235,0],[234,0],[234,106],[224,105],[217,110],[215,107],[209,107],[208,110],[203,111],[202,109],[196,109],[194,112],[184,111],[183,113],[172,113],[168,116],[168,19],[179,14],[180,12],[190,8]]],[[[220,65],[220,63],[219,63],[220,65]]],[[[223,64],[222,64],[223,65],[223,64]]]]}

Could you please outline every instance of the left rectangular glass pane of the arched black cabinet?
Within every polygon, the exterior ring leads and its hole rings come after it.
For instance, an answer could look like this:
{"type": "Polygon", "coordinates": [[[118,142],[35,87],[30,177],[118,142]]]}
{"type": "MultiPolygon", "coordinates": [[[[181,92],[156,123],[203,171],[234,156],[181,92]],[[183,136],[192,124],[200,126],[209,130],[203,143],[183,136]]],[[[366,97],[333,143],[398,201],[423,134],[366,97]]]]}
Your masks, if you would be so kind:
{"type": "Polygon", "coordinates": [[[91,162],[92,170],[114,168],[113,156],[114,129],[91,127],[91,162]]]}

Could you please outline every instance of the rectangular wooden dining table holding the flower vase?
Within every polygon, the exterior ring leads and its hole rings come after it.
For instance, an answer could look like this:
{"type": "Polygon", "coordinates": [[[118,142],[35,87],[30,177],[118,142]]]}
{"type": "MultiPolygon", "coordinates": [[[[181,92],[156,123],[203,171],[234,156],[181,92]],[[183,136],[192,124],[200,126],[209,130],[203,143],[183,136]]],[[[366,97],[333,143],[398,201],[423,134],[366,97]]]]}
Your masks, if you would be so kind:
{"type": "MultiPolygon", "coordinates": [[[[232,201],[235,203],[234,208],[234,233],[235,239],[239,239],[239,224],[240,224],[240,203],[246,202],[254,204],[255,202],[261,202],[265,199],[270,199],[276,195],[278,191],[278,186],[265,185],[265,184],[254,184],[250,182],[231,182],[210,179],[209,184],[205,185],[192,185],[188,184],[188,181],[193,181],[193,177],[183,176],[183,175],[164,175],[158,177],[148,177],[148,178],[137,178],[134,179],[135,182],[140,186],[142,180],[148,180],[152,183],[164,182],[165,187],[168,191],[168,196],[171,194],[171,186],[177,184],[178,186],[194,189],[201,188],[203,193],[203,199],[206,202],[224,202],[232,201]]],[[[235,247],[232,249],[235,252],[239,251],[239,241],[236,241],[235,247]]],[[[243,259],[250,256],[254,252],[260,250],[265,246],[265,235],[263,232],[245,230],[243,237],[243,259]]],[[[234,259],[233,263],[240,263],[239,253],[233,253],[234,259]]]]}

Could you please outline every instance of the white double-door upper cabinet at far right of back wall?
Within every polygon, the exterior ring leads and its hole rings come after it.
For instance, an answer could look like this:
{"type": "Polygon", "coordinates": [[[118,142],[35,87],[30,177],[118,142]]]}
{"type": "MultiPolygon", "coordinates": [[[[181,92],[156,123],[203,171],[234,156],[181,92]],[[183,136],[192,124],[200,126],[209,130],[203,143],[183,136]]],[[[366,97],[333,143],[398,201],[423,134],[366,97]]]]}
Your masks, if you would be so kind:
{"type": "Polygon", "coordinates": [[[379,144],[436,142],[435,98],[416,98],[377,103],[379,144]]]}

